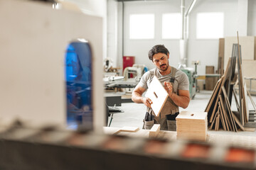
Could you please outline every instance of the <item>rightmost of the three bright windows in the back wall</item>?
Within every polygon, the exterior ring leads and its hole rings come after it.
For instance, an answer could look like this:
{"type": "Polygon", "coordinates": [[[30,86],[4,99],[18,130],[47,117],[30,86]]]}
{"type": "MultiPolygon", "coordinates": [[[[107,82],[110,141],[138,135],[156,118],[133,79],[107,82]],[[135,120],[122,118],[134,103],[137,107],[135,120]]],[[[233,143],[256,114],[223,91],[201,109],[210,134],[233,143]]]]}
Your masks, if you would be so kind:
{"type": "Polygon", "coordinates": [[[198,13],[196,23],[196,38],[223,38],[224,13],[198,13]]]}

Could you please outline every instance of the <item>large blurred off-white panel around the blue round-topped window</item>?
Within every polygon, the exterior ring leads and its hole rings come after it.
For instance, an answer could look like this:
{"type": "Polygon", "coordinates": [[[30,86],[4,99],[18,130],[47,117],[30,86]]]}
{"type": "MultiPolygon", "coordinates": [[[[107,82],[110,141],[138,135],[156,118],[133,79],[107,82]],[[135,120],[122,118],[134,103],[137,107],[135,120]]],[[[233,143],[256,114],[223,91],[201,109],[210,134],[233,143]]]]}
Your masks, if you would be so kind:
{"type": "Polygon", "coordinates": [[[34,126],[65,125],[65,49],[71,40],[85,38],[92,45],[93,89],[97,89],[94,120],[103,125],[102,69],[98,69],[102,19],[38,2],[0,0],[0,22],[0,118],[20,118],[34,126]]]}

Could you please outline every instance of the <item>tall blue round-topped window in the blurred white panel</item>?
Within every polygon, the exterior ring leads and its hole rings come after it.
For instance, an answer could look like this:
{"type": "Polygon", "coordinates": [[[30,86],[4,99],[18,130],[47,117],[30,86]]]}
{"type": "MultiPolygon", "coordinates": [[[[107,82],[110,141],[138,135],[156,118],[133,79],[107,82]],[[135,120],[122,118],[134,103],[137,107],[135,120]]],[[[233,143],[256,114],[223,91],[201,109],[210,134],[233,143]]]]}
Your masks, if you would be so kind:
{"type": "Polygon", "coordinates": [[[92,52],[86,41],[68,45],[65,54],[67,123],[92,130],[92,52]]]}

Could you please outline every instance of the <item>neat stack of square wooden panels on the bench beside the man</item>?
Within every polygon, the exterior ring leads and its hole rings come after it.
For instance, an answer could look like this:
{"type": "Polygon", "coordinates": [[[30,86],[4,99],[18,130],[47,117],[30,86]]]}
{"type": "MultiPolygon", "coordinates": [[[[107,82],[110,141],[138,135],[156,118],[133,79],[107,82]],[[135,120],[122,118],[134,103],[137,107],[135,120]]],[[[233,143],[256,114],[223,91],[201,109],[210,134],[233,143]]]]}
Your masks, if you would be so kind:
{"type": "Polygon", "coordinates": [[[178,140],[206,141],[207,113],[182,111],[176,117],[178,140]]]}

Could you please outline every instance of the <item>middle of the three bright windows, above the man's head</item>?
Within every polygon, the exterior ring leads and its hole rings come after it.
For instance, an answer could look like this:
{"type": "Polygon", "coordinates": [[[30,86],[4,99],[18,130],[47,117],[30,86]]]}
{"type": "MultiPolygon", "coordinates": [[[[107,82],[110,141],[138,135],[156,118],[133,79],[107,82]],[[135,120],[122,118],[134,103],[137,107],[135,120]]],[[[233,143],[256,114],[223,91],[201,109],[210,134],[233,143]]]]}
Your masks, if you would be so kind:
{"type": "Polygon", "coordinates": [[[181,38],[181,13],[163,13],[162,38],[181,38]]]}

